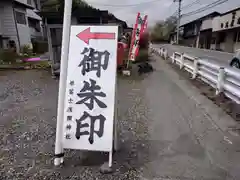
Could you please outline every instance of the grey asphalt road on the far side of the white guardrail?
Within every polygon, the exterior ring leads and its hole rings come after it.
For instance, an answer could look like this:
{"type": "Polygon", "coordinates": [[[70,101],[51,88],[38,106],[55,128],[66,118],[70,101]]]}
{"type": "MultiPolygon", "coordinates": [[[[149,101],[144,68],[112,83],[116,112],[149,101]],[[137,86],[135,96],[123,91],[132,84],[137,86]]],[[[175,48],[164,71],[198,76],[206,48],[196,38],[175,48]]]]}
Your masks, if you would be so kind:
{"type": "Polygon", "coordinates": [[[192,47],[177,46],[171,44],[154,44],[154,47],[165,47],[168,50],[169,55],[172,55],[173,52],[187,53],[189,55],[201,58],[206,61],[212,61],[223,66],[229,66],[229,63],[233,58],[232,53],[212,51],[206,49],[197,49],[192,47]]]}

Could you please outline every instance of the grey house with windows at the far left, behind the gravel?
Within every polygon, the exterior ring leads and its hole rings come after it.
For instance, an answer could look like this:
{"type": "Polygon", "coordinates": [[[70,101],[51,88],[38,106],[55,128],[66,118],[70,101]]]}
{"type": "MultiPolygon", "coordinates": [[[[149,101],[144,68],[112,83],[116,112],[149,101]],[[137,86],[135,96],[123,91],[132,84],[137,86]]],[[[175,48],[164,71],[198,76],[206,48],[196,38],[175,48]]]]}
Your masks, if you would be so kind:
{"type": "Polygon", "coordinates": [[[39,0],[0,1],[0,49],[16,47],[17,52],[32,40],[42,38],[39,0]]]}

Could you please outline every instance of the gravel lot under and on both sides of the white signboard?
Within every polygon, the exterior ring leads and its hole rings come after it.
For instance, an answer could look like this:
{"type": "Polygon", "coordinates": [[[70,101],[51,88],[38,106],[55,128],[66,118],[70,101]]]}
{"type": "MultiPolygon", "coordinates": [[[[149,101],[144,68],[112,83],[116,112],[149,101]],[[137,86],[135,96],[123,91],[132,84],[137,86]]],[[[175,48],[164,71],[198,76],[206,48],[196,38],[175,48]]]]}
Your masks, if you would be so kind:
{"type": "Polygon", "coordinates": [[[96,152],[67,151],[64,167],[53,166],[58,80],[49,72],[0,71],[0,81],[0,179],[139,178],[140,167],[149,155],[141,79],[119,78],[122,143],[114,157],[113,175],[99,173],[108,156],[96,152]]]}

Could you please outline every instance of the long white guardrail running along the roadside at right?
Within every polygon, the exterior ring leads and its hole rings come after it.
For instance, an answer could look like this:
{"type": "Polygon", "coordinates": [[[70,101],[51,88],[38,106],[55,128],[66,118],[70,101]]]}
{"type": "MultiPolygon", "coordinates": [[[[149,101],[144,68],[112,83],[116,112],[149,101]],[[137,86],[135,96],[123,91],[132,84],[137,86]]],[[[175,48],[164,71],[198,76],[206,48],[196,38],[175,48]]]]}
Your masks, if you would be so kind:
{"type": "MultiPolygon", "coordinates": [[[[150,50],[155,54],[168,59],[167,50],[164,48],[154,48],[150,50]]],[[[227,97],[240,104],[240,70],[232,67],[221,67],[212,62],[174,52],[170,57],[172,63],[179,65],[192,74],[192,78],[199,78],[216,90],[216,95],[224,93],[227,97]]]]}

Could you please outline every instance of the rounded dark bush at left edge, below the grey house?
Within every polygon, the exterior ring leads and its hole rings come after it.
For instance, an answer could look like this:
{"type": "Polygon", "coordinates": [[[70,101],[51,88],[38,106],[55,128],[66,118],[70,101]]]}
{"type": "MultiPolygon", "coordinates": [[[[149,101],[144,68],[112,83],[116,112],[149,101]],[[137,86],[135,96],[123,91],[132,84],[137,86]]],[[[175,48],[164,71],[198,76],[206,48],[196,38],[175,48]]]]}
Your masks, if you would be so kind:
{"type": "Polygon", "coordinates": [[[12,51],[11,49],[1,50],[0,51],[0,60],[3,63],[15,63],[16,60],[19,58],[19,55],[12,51]]]}

